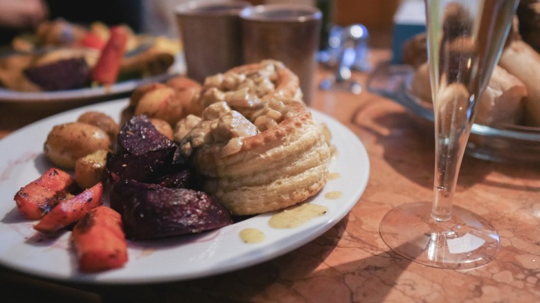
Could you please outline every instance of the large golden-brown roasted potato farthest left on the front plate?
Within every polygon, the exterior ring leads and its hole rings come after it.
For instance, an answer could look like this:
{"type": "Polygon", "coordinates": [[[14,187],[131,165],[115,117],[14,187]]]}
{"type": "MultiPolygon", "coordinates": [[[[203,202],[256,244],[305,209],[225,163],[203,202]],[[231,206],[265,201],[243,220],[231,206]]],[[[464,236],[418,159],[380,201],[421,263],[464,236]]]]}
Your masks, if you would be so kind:
{"type": "Polygon", "coordinates": [[[108,150],[111,138],[99,127],[82,122],[69,122],[56,125],[49,132],[44,144],[44,154],[55,165],[74,169],[78,158],[108,150]]]}

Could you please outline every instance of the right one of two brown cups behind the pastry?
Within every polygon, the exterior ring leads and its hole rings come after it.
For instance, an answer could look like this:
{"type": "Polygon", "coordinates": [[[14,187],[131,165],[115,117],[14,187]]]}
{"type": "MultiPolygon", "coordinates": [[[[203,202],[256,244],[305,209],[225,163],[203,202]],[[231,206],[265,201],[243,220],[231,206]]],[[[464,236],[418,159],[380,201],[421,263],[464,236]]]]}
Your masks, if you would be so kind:
{"type": "Polygon", "coordinates": [[[321,10],[297,4],[251,6],[240,12],[245,63],[276,59],[300,80],[304,101],[314,94],[321,10]]]}

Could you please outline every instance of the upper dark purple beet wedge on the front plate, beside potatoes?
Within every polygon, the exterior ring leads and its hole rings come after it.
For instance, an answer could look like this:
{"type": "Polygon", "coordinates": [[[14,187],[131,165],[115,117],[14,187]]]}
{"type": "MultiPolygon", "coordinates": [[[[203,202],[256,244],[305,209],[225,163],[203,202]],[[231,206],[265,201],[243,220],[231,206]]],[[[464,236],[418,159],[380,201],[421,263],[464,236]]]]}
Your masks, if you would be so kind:
{"type": "Polygon", "coordinates": [[[107,155],[107,172],[113,182],[127,178],[152,183],[170,171],[177,148],[147,116],[135,116],[120,129],[117,152],[107,155]]]}

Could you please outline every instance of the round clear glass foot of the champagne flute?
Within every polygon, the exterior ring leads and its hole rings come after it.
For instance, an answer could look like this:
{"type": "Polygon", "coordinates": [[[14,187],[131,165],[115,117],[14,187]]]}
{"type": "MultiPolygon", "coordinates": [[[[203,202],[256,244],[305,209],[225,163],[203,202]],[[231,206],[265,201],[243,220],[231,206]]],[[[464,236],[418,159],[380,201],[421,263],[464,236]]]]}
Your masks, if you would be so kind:
{"type": "Polygon", "coordinates": [[[411,261],[438,268],[465,269],[495,259],[500,239],[491,223],[456,205],[451,219],[431,217],[431,202],[399,205],[381,221],[384,242],[411,261]]]}

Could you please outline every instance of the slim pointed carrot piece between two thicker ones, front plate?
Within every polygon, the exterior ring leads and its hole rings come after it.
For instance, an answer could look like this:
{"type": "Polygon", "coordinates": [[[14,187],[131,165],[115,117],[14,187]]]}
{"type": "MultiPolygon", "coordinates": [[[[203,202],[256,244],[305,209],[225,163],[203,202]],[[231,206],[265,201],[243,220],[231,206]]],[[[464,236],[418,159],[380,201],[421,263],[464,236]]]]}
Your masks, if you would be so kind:
{"type": "Polygon", "coordinates": [[[102,196],[103,183],[99,182],[71,199],[61,200],[34,228],[40,232],[55,232],[69,226],[102,205],[102,196]]]}

